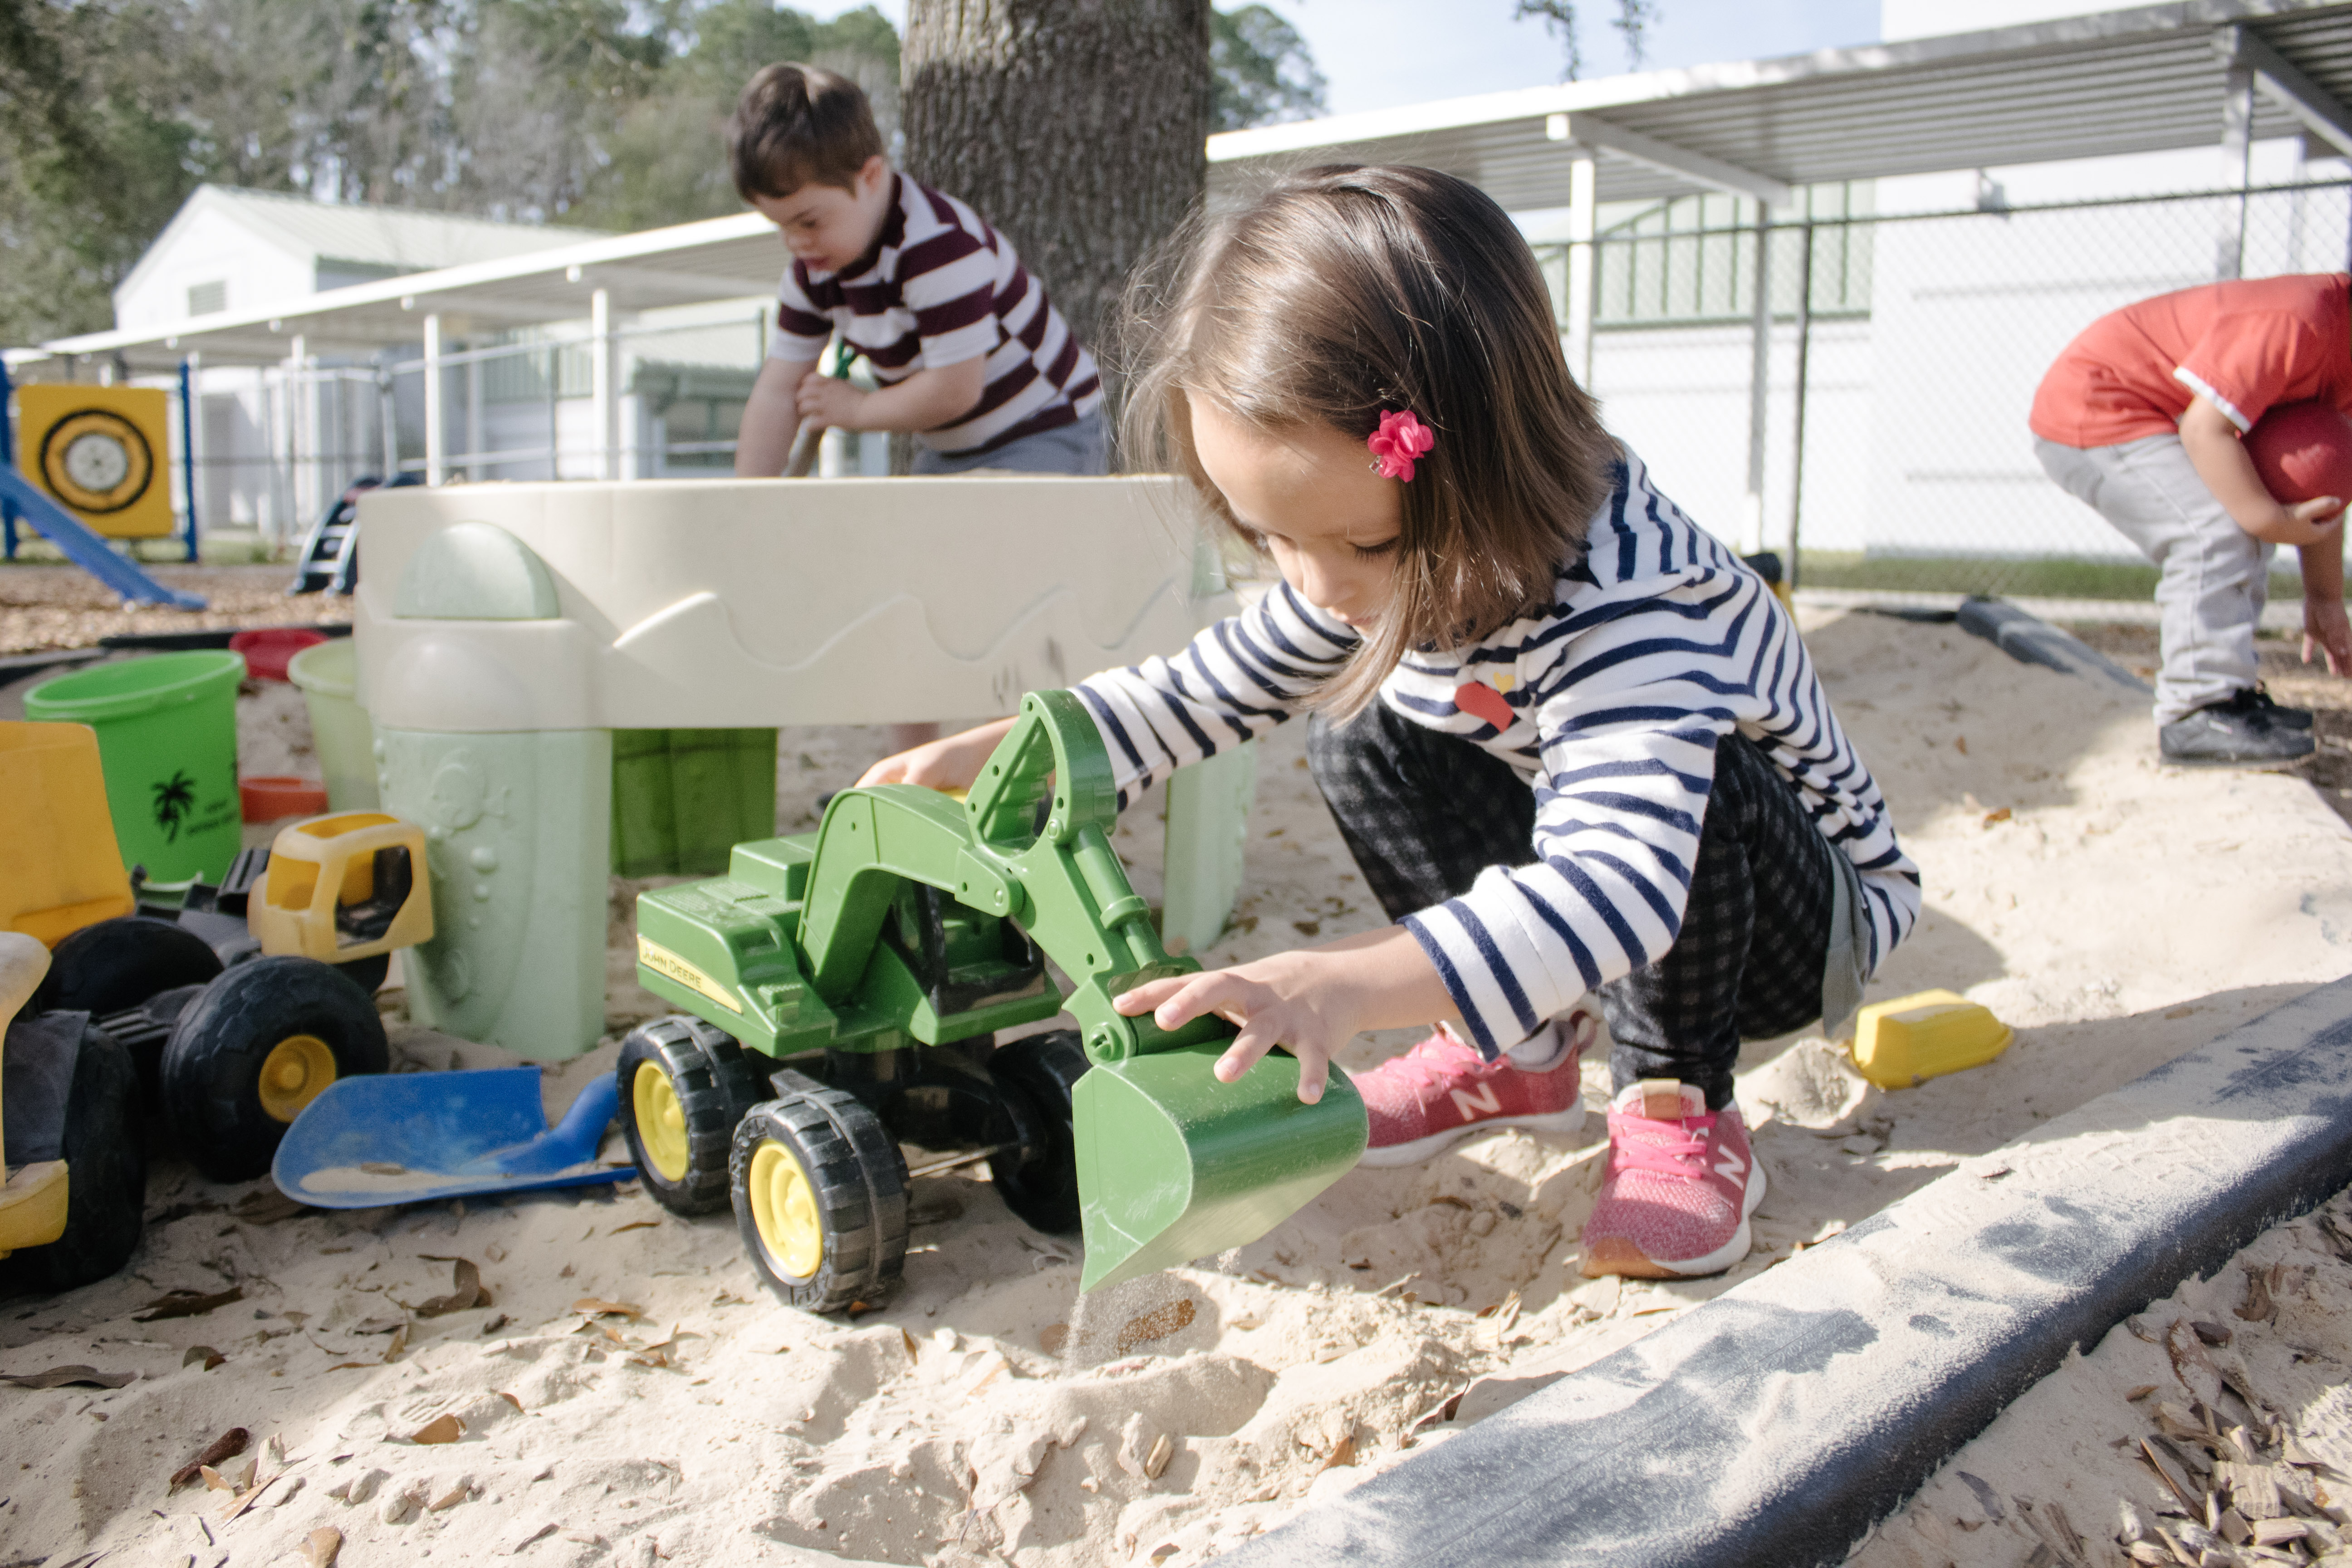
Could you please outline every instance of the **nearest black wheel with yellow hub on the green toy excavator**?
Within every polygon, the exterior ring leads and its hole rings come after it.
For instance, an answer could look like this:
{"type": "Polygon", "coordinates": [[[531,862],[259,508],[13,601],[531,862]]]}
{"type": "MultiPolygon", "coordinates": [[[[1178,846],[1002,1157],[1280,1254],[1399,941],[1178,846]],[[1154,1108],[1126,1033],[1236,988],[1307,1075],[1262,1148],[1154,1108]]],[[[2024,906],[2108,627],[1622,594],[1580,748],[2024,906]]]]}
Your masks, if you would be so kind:
{"type": "Polygon", "coordinates": [[[906,1159],[863,1103],[797,1072],[753,1105],[727,1161],[743,1251],[793,1307],[880,1305],[906,1267],[906,1159]]]}

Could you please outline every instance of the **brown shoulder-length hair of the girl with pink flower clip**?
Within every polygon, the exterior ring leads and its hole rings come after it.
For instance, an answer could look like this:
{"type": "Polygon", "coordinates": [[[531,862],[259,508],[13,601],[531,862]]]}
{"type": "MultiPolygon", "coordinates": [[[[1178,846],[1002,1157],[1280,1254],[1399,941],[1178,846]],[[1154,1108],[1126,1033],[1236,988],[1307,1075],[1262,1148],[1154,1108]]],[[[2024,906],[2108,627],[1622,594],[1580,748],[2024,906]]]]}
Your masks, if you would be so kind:
{"type": "Polygon", "coordinates": [[[1569,376],[1536,256],[1451,174],[1305,169],[1195,216],[1129,289],[1122,324],[1124,465],[1185,475],[1251,548],[1192,451],[1192,397],[1268,430],[1355,437],[1411,409],[1437,435],[1402,482],[1390,609],[1312,698],[1338,717],[1411,649],[1548,604],[1609,494],[1616,444],[1569,376]]]}

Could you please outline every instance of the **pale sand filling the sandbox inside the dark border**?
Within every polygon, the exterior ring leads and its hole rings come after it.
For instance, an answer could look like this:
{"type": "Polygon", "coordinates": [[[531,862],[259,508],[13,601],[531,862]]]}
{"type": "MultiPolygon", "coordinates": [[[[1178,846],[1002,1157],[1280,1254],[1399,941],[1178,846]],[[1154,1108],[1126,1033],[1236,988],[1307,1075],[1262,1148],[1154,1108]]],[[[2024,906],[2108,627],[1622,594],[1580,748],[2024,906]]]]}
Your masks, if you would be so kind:
{"type": "MultiPolygon", "coordinates": [[[[924,1178],[906,1286],[856,1321],[776,1305],[729,1215],[670,1218],[633,1182],[287,1215],[266,1185],[160,1159],[127,1274],[0,1305],[0,1375],[136,1373],[0,1385],[0,1563],[299,1561],[320,1528],[343,1563],[1202,1561],[2345,973],[2352,830],[2303,780],[2161,771],[2129,693],[1950,625],[1816,614],[1806,635],[1926,870],[1929,914],[1872,997],[1959,990],[2018,1039],[1900,1093],[1818,1039],[1752,1046],[1740,1100],[1771,1197],[1724,1279],[1576,1274],[1597,1110],[1573,1138],[1357,1171],[1254,1246],[1087,1300],[1075,1241],[1028,1232],[971,1173],[924,1178]],[[426,1316],[454,1258],[494,1300],[426,1316]],[[202,1316],[134,1321],[165,1291],[233,1286],[202,1316]],[[419,1443],[452,1434],[442,1415],[459,1441],[419,1443]],[[169,1493],[228,1427],[254,1446],[223,1479],[259,1455],[263,1488],[169,1493]]],[[[299,762],[292,719],[249,708],[299,762]]],[[[1249,886],[1211,964],[1381,922],[1301,741],[1263,745],[1249,886]]],[[[880,731],[786,733],[783,827],[880,750],[880,731]]],[[[1157,802],[1117,846],[1155,900],[1157,802]]],[[[614,1039],[666,1011],[626,957],[637,886],[614,889],[614,1039]]],[[[400,1023],[395,987],[381,1006],[402,1065],[501,1060],[400,1023]]],[[[614,1039],[548,1072],[550,1110],[614,1039]]],[[[1585,1084],[1597,1105],[1602,1063],[1585,1084]]]]}

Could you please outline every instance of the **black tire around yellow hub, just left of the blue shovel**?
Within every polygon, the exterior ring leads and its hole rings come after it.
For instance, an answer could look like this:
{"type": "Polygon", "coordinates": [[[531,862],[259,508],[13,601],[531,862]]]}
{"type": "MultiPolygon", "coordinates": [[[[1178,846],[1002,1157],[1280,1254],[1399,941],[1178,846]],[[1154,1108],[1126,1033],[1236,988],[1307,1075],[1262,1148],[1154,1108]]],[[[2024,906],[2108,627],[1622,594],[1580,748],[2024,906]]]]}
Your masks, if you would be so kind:
{"type": "Polygon", "coordinates": [[[261,1107],[261,1063],[294,1034],[320,1039],[339,1079],[390,1067],[374,997],[318,959],[238,964],[172,1025],[162,1048],[165,1124],[188,1164],[212,1180],[268,1173],[287,1124],[261,1107]]]}

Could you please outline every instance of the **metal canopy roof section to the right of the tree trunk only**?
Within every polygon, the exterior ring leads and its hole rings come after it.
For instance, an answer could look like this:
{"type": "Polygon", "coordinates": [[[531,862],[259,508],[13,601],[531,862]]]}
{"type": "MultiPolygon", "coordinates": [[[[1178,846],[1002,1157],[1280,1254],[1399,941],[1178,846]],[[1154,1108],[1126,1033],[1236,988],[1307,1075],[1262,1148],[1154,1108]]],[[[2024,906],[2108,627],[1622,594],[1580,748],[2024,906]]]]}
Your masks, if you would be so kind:
{"type": "MultiPolygon", "coordinates": [[[[1421,162],[1475,181],[1503,207],[1569,205],[1571,146],[1552,115],[1670,143],[1788,186],[1884,174],[2218,146],[2232,26],[2352,101],[2352,5],[2185,0],[1987,33],[1820,49],[1788,59],[1656,71],[1498,92],[1209,139],[1211,193],[1294,162],[1421,162]]],[[[2256,136],[2310,120],[2256,96],[2256,136]]],[[[1597,155],[1597,195],[1656,200],[1722,188],[1597,155]]]]}

